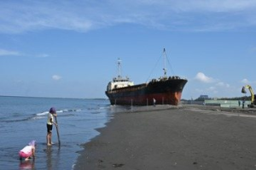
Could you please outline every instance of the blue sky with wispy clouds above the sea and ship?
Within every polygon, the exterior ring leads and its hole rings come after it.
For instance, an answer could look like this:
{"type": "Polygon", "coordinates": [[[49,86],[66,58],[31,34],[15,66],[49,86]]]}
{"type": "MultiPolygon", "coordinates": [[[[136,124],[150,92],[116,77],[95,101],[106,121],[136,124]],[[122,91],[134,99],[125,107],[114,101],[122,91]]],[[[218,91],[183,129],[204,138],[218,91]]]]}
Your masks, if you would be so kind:
{"type": "MultiPolygon", "coordinates": [[[[239,97],[256,87],[255,0],[0,2],[0,95],[107,98],[109,81],[163,75],[183,99],[239,97]]],[[[247,94],[250,95],[250,94],[247,94]]]]}

